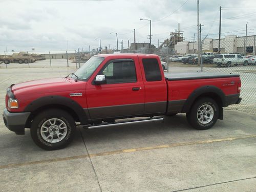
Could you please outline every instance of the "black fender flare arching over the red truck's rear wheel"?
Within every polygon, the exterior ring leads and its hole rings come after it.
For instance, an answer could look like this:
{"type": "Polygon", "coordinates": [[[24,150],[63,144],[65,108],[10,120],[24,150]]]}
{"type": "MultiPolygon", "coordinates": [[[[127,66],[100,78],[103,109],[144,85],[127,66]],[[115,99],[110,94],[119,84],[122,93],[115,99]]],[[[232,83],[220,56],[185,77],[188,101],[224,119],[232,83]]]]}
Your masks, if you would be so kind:
{"type": "Polygon", "coordinates": [[[226,95],[223,93],[223,91],[220,88],[218,88],[216,86],[203,86],[203,87],[200,87],[200,88],[196,89],[195,91],[193,91],[193,93],[191,93],[188,96],[186,102],[183,105],[181,113],[189,112],[189,110],[190,110],[191,106],[193,105],[194,101],[198,97],[200,97],[202,95],[207,95],[207,94],[208,94],[208,96],[216,96],[217,95],[220,98],[221,102],[222,102],[221,105],[222,106],[227,106],[227,104],[226,104],[226,95]]]}

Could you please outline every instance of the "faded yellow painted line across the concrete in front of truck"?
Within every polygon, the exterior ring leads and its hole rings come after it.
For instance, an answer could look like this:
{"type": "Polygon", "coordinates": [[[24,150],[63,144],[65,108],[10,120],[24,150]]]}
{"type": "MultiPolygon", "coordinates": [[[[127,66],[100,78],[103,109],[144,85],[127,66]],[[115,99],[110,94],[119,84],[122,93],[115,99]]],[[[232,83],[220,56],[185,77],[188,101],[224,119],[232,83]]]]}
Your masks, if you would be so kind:
{"type": "MultiPolygon", "coordinates": [[[[233,141],[233,140],[249,139],[249,138],[256,138],[256,135],[246,135],[246,136],[239,136],[239,137],[229,137],[229,138],[223,138],[223,139],[211,139],[211,140],[201,140],[201,141],[192,141],[192,142],[183,142],[183,143],[172,143],[172,144],[157,145],[157,146],[150,146],[150,147],[128,148],[128,149],[124,149],[124,150],[116,150],[116,151],[111,151],[111,152],[102,152],[102,153],[97,153],[97,154],[90,154],[90,157],[93,158],[93,157],[115,155],[115,154],[122,154],[122,153],[133,153],[133,152],[139,152],[139,151],[157,150],[157,149],[160,149],[160,148],[171,148],[171,147],[179,147],[179,146],[207,144],[207,143],[233,141]]],[[[68,161],[68,160],[74,160],[74,159],[85,159],[85,158],[89,158],[89,155],[79,155],[79,156],[72,156],[72,157],[63,157],[63,158],[55,158],[55,159],[47,159],[47,160],[7,164],[7,165],[1,165],[0,169],[14,168],[14,167],[19,167],[19,166],[28,166],[28,165],[42,164],[42,163],[53,163],[53,162],[59,162],[59,161],[68,161]]]]}

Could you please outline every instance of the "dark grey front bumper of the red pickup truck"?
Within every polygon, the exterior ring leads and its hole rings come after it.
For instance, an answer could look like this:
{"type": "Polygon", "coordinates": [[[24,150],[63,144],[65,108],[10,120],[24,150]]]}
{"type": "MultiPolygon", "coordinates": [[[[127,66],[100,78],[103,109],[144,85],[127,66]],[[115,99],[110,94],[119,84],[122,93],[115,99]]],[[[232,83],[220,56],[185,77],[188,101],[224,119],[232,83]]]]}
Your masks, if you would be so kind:
{"type": "Polygon", "coordinates": [[[25,125],[30,114],[30,112],[11,113],[5,108],[3,113],[5,126],[17,135],[23,135],[25,133],[25,125]]]}

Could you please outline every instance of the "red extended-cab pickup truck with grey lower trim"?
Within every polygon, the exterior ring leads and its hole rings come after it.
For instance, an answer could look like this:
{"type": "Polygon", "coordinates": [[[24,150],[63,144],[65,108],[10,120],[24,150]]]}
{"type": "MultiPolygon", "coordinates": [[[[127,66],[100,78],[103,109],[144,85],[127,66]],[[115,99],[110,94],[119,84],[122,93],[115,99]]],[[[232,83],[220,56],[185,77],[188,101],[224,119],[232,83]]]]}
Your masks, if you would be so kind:
{"type": "Polygon", "coordinates": [[[158,121],[162,115],[186,113],[205,130],[223,119],[223,107],[238,104],[237,74],[164,74],[159,56],[93,56],[66,78],[12,84],[7,89],[4,122],[16,134],[30,128],[33,141],[46,150],[67,146],[76,125],[95,128],[158,121]],[[132,117],[139,120],[120,121],[132,117]]]}

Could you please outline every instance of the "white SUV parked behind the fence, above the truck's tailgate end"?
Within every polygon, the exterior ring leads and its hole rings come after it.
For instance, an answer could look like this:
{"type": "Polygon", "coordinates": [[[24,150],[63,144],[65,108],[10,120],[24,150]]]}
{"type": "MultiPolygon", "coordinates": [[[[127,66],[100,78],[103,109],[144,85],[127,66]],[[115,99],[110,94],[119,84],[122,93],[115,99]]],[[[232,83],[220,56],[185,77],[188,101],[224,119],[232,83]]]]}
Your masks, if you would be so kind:
{"type": "Polygon", "coordinates": [[[248,65],[248,59],[243,58],[240,54],[216,54],[214,57],[214,63],[217,64],[218,67],[225,65],[226,67],[238,66],[242,64],[244,66],[248,65]]]}

